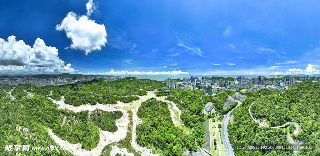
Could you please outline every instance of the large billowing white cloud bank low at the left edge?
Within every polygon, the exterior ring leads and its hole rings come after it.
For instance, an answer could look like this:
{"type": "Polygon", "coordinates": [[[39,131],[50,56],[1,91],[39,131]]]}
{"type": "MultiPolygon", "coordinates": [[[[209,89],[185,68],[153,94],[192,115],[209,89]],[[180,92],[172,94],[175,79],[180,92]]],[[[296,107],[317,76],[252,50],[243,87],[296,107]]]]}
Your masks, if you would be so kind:
{"type": "Polygon", "coordinates": [[[7,41],[0,38],[0,72],[3,73],[61,73],[74,72],[71,64],[64,65],[58,57],[58,49],[46,46],[37,38],[33,47],[23,40],[9,36],[7,41]]]}

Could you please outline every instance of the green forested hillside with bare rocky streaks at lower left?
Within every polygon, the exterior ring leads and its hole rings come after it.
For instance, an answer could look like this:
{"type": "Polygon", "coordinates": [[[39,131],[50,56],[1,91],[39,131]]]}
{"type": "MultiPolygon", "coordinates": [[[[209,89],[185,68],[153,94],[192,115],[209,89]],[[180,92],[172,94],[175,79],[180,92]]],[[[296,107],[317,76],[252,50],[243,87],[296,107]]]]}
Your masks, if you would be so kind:
{"type": "MultiPolygon", "coordinates": [[[[6,144],[30,144],[30,146],[50,146],[52,144],[57,146],[44,127],[52,129],[52,132],[61,139],[73,144],[81,142],[82,148],[90,150],[100,141],[99,129],[115,132],[117,130],[115,121],[123,114],[119,111],[102,110],[74,113],[58,109],[57,105],[46,97],[35,96],[0,102],[0,115],[0,133],[2,134],[0,135],[0,151],[4,151],[6,144]],[[28,128],[35,136],[25,139],[24,133],[20,135],[16,127],[28,128]]],[[[33,152],[23,153],[32,155],[33,152]]],[[[40,155],[56,153],[55,151],[39,152],[42,153],[40,155]]]]}

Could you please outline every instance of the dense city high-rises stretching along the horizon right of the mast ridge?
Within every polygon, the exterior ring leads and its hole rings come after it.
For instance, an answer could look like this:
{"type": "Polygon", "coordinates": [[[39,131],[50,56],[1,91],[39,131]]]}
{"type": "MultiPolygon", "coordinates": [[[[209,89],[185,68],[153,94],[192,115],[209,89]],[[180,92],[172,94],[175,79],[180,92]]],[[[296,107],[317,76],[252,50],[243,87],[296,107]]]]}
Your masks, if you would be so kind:
{"type": "MultiPolygon", "coordinates": [[[[297,81],[293,78],[293,76],[289,76],[289,78],[284,78],[283,80],[274,80],[269,81],[265,76],[257,76],[257,77],[244,77],[238,76],[234,78],[234,81],[227,80],[215,80],[214,76],[207,77],[193,77],[191,76],[186,78],[182,78],[182,82],[177,82],[176,80],[172,80],[170,82],[170,78],[166,80],[166,89],[176,89],[181,88],[184,90],[202,90],[204,93],[208,95],[212,95],[215,92],[223,92],[225,90],[236,91],[239,89],[245,89],[246,92],[254,92],[260,89],[269,89],[269,90],[284,90],[284,86],[294,85],[296,82],[305,82],[310,79],[310,77],[301,78],[300,81],[297,81]]],[[[320,82],[319,78],[316,78],[315,81],[320,82]]]]}

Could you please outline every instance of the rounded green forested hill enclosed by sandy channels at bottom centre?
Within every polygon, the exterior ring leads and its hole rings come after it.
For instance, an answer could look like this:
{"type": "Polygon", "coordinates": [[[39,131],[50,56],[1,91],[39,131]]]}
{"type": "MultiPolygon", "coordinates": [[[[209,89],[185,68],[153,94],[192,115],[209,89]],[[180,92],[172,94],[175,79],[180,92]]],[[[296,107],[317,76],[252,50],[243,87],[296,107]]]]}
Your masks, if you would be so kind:
{"type": "MultiPolygon", "coordinates": [[[[196,151],[195,133],[186,135],[174,126],[166,102],[150,98],[141,104],[137,116],[142,119],[136,128],[138,144],[168,156],[182,155],[181,149],[184,147],[196,151]]],[[[203,128],[201,123],[199,125],[203,128]]]]}

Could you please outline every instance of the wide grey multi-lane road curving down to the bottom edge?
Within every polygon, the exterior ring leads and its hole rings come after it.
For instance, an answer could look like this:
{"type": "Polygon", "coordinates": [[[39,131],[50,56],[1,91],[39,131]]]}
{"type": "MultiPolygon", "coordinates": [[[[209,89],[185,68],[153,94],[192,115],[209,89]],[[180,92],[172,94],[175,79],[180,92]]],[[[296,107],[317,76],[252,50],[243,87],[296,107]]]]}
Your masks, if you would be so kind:
{"type": "MultiPolygon", "coordinates": [[[[238,105],[236,105],[235,108],[237,108],[239,105],[242,104],[242,102],[236,100],[238,102],[238,105]]],[[[227,129],[227,125],[228,125],[228,121],[230,118],[230,113],[235,109],[233,108],[229,113],[227,113],[226,115],[223,116],[223,120],[221,122],[221,138],[222,138],[222,143],[223,143],[223,147],[226,151],[227,156],[234,156],[235,153],[233,151],[232,145],[230,143],[229,140],[229,136],[228,136],[228,129],[227,129]]]]}

